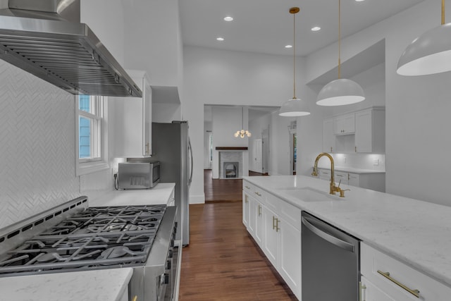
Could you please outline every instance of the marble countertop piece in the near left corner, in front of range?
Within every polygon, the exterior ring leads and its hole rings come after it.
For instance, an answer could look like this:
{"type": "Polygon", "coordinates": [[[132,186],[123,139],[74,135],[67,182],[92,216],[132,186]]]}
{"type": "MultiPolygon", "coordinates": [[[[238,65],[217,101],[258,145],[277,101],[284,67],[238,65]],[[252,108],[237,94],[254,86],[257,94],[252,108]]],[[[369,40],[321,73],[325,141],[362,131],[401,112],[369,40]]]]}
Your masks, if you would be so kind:
{"type": "Polygon", "coordinates": [[[132,268],[0,278],[0,300],[119,301],[132,268]]]}

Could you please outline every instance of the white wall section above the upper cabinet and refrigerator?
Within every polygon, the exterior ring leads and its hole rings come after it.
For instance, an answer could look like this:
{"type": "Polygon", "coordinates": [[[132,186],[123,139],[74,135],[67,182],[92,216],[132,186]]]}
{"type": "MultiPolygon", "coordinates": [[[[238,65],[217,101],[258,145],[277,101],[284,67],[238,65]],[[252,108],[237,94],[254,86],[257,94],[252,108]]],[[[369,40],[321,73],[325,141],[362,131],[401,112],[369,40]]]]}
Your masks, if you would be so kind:
{"type": "Polygon", "coordinates": [[[146,70],[152,86],[181,86],[183,46],[178,0],[122,2],[125,66],[146,70]]]}

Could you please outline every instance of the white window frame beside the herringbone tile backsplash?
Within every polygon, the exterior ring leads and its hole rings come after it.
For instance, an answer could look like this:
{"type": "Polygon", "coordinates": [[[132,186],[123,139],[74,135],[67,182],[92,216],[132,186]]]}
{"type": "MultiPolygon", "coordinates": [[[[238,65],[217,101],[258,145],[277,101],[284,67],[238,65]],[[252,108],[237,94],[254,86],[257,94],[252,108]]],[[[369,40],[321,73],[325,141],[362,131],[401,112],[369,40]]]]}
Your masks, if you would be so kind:
{"type": "Polygon", "coordinates": [[[75,95],[75,175],[82,176],[88,173],[103,171],[109,168],[108,160],[108,127],[107,127],[107,101],[106,97],[92,96],[91,105],[95,106],[95,114],[80,111],[79,97],[75,95]],[[98,125],[92,127],[91,145],[97,148],[97,156],[94,158],[79,158],[79,118],[80,116],[94,119],[98,125]],[[95,128],[95,129],[94,129],[95,128]]]}

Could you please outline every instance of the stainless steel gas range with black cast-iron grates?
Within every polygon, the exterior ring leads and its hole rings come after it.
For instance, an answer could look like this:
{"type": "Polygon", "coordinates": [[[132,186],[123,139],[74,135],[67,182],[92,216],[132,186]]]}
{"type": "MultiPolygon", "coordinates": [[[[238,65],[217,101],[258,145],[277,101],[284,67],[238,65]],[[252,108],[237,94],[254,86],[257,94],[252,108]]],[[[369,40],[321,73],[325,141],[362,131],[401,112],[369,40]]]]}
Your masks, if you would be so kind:
{"type": "Polygon", "coordinates": [[[73,199],[0,230],[0,277],[132,267],[129,300],[173,300],[176,207],[73,199]]]}

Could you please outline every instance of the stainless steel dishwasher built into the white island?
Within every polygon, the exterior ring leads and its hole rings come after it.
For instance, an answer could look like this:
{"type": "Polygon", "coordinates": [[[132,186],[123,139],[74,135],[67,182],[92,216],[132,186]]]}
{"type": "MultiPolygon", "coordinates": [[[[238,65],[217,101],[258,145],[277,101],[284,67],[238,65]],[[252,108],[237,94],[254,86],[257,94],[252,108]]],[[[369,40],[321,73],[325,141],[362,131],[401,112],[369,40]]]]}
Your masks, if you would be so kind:
{"type": "Polygon", "coordinates": [[[358,301],[359,240],[302,211],[302,301],[358,301]]]}

